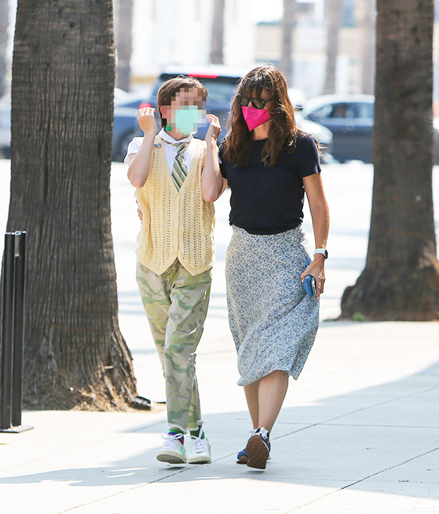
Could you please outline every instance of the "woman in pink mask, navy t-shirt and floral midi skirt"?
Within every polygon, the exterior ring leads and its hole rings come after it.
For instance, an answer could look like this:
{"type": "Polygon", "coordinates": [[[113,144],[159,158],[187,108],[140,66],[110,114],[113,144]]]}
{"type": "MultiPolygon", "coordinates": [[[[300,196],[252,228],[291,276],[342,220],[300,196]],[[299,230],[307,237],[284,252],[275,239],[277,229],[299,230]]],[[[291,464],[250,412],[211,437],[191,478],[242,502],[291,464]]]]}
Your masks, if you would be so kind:
{"type": "MultiPolygon", "coordinates": [[[[233,236],[226,256],[229,324],[238,384],[244,386],[254,429],[238,462],[265,469],[269,434],[288,378],[299,376],[317,333],[329,231],[319,150],[314,138],[295,125],[287,84],[275,67],[258,67],[241,80],[220,158],[222,177],[232,191],[233,236]],[[304,193],[314,252],[302,228],[304,193]],[[314,276],[315,297],[304,291],[307,275],[314,276]]],[[[218,179],[218,194],[221,185],[218,179]]]]}

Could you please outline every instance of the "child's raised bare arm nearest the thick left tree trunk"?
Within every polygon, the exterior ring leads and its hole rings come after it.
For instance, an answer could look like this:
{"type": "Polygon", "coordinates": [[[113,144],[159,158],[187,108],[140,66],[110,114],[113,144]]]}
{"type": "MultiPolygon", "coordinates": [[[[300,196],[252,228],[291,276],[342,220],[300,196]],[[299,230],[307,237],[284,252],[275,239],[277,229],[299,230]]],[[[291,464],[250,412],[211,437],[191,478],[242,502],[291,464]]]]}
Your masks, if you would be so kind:
{"type": "Polygon", "coordinates": [[[143,187],[149,174],[151,164],[152,146],[157,133],[157,125],[154,119],[155,109],[145,107],[137,111],[137,120],[140,128],[144,131],[142,145],[137,154],[128,155],[130,165],[128,167],[128,178],[135,187],[143,187]]]}

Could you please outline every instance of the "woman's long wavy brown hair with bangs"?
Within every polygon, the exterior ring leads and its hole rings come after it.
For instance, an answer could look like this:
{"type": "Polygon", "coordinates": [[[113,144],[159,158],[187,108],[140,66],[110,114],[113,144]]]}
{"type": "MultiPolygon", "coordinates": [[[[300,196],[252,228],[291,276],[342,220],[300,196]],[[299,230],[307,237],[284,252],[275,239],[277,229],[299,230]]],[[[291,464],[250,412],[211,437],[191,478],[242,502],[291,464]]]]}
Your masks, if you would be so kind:
{"type": "Polygon", "coordinates": [[[270,108],[270,130],[262,151],[263,163],[267,167],[273,166],[278,162],[282,152],[293,152],[297,134],[302,133],[302,130],[295,124],[294,108],[288,97],[287,82],[283,74],[271,65],[252,69],[239,82],[232,100],[232,108],[227,121],[227,135],[223,143],[224,157],[240,167],[249,162],[253,138],[236,96],[241,94],[258,98],[263,89],[273,99],[273,108],[270,108]]]}

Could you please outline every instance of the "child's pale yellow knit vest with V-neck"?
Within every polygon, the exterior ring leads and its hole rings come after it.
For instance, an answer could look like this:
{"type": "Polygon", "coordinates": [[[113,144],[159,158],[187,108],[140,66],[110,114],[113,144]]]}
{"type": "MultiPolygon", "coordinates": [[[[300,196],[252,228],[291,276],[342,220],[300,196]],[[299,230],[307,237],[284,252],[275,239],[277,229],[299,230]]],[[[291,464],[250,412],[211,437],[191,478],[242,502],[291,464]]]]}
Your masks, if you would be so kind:
{"type": "Polygon", "coordinates": [[[166,164],[164,142],[156,135],[148,179],[135,192],[143,213],[137,259],[158,275],[176,259],[191,275],[205,272],[215,261],[214,208],[201,194],[206,143],[197,143],[188,175],[177,191],[166,164]]]}

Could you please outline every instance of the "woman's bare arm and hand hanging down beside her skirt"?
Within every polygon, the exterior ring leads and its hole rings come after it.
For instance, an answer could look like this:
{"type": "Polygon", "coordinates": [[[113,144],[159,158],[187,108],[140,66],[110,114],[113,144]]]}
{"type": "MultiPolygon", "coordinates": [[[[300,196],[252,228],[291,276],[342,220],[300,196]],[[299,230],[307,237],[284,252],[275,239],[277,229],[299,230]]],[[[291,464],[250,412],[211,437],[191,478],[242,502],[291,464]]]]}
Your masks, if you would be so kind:
{"type": "MultiPolygon", "coordinates": [[[[329,209],[323,190],[321,176],[319,173],[303,177],[303,185],[307,194],[309,210],[312,216],[312,228],[314,230],[314,240],[316,248],[326,248],[326,240],[329,233],[329,209]]],[[[325,272],[324,255],[317,254],[314,260],[300,275],[302,281],[307,275],[312,275],[316,279],[317,298],[324,291],[325,272]]]]}

